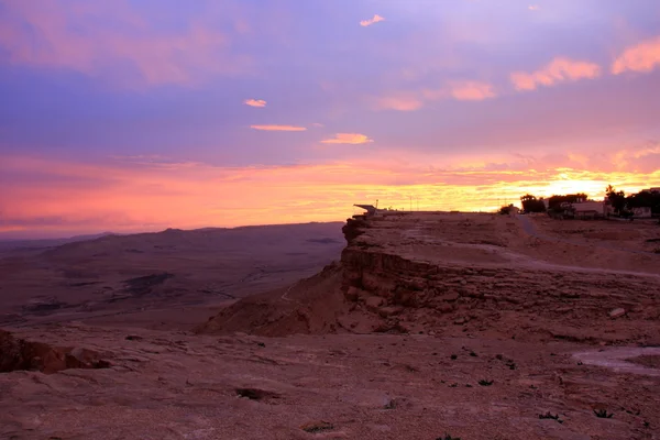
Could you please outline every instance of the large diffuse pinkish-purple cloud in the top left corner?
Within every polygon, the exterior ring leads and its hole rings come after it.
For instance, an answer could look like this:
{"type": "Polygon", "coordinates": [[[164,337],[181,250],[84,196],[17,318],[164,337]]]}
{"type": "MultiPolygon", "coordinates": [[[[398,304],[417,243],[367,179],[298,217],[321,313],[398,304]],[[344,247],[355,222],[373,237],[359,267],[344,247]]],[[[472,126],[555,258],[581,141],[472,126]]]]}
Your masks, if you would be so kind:
{"type": "MultiPolygon", "coordinates": [[[[248,57],[230,53],[230,40],[211,23],[197,22],[175,33],[158,33],[125,0],[66,7],[55,1],[8,0],[4,8],[0,47],[13,64],[108,77],[114,72],[109,66],[124,62],[134,68],[142,84],[150,86],[191,85],[251,67],[248,57]],[[97,18],[102,18],[106,25],[99,25],[97,18]]],[[[135,85],[133,79],[107,79],[128,87],[135,85]]]]}

